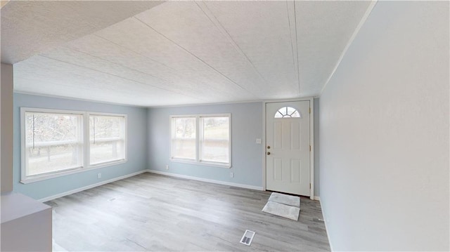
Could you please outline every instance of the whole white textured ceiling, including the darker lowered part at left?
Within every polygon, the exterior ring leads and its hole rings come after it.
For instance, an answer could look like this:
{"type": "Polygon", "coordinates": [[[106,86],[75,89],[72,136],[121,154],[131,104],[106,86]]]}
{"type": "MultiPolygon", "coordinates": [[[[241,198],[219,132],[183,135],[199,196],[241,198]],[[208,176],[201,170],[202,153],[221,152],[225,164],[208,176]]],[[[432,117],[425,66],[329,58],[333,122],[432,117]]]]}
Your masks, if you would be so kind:
{"type": "Polygon", "coordinates": [[[22,3],[1,9],[15,91],[146,107],[319,95],[370,4],[22,3]]]}

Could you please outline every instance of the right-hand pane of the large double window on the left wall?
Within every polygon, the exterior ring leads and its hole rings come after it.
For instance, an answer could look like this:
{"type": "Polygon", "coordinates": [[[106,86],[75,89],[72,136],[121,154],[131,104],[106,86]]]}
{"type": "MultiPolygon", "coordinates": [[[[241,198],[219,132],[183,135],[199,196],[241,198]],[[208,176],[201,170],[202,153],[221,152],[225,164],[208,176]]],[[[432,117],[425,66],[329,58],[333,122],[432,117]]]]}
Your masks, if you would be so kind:
{"type": "Polygon", "coordinates": [[[90,164],[125,159],[124,117],[89,117],[90,164]]]}

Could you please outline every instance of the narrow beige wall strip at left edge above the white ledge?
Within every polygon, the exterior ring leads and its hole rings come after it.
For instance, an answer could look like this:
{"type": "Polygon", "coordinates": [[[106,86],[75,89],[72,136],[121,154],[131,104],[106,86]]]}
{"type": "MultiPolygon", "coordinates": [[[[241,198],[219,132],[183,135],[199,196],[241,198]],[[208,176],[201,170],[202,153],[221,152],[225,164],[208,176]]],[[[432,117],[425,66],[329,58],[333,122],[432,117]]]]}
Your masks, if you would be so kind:
{"type": "Polygon", "coordinates": [[[13,65],[1,63],[1,192],[13,190],[13,65]]]}

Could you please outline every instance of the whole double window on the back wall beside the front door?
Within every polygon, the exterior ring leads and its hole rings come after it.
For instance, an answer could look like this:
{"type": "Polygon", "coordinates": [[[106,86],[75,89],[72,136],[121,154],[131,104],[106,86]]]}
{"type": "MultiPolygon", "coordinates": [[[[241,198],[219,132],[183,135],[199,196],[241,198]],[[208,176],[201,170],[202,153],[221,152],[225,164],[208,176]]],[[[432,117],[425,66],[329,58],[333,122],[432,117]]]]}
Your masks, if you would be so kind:
{"type": "Polygon", "coordinates": [[[171,159],[231,167],[231,115],[172,116],[171,159]]]}

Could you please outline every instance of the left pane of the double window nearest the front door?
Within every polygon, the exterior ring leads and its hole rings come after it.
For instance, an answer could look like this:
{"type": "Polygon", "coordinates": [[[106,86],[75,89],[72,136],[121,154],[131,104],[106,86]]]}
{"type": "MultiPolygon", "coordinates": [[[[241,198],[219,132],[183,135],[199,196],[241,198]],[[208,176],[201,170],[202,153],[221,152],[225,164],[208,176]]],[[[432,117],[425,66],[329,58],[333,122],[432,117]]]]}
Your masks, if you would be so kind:
{"type": "Polygon", "coordinates": [[[172,118],[172,158],[195,159],[195,117],[172,118]]]}

